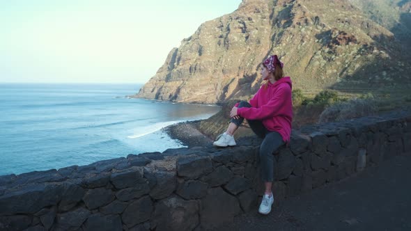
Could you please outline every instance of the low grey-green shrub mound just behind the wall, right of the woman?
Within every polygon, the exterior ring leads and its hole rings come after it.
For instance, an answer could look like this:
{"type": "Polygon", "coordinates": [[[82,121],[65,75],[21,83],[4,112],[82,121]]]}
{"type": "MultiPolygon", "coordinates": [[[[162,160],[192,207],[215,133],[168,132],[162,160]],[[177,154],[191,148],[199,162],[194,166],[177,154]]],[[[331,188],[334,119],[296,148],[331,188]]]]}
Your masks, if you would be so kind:
{"type": "Polygon", "coordinates": [[[362,116],[373,116],[378,106],[373,99],[351,99],[327,107],[320,115],[318,122],[343,121],[362,116]]]}

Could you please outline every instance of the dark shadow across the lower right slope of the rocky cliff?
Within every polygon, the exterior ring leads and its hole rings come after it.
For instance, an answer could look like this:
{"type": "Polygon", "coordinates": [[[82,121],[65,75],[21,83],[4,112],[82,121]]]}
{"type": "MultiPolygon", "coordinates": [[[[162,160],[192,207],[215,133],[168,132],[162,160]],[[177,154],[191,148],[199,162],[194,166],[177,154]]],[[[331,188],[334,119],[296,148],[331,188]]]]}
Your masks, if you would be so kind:
{"type": "MultiPolygon", "coordinates": [[[[330,89],[342,93],[381,93],[401,96],[404,93],[411,97],[411,62],[409,54],[404,54],[403,42],[394,41],[394,38],[378,35],[375,42],[363,46],[364,56],[375,53],[374,49],[387,51],[387,55],[377,54],[370,63],[364,63],[357,70],[348,74],[343,69],[339,74],[341,81],[334,83],[330,89]],[[388,47],[388,48],[387,48],[388,47]]],[[[351,63],[352,65],[357,63],[351,63]]]]}

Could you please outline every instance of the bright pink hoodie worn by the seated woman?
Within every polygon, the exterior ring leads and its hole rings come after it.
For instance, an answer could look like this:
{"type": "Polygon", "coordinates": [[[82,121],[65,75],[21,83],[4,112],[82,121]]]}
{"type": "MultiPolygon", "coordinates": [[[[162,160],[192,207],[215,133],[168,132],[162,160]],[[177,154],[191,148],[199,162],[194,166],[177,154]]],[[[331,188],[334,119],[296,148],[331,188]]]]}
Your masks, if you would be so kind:
{"type": "Polygon", "coordinates": [[[239,108],[238,116],[247,120],[262,120],[268,131],[278,132],[288,143],[293,121],[291,88],[290,77],[281,78],[274,84],[269,82],[267,88],[261,86],[249,102],[252,107],[239,108]]]}

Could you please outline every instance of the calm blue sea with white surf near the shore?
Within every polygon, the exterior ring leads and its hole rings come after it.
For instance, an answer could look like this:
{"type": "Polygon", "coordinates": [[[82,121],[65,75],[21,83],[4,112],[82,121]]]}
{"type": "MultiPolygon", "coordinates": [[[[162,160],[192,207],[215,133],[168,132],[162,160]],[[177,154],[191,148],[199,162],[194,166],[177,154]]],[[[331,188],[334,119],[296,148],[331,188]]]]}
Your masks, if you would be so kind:
{"type": "Polygon", "coordinates": [[[130,99],[133,84],[0,84],[0,175],[183,147],[162,127],[218,106],[130,99]]]}

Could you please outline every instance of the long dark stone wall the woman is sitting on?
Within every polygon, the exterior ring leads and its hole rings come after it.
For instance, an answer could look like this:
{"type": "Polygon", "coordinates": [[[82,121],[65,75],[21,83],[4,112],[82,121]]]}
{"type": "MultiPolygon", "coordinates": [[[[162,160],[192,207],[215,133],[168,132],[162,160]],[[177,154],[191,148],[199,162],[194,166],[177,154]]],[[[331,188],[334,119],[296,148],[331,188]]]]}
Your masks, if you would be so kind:
{"type": "MultiPolygon", "coordinates": [[[[411,153],[411,113],[293,131],[274,153],[276,204],[411,153]]],[[[257,209],[258,138],[0,177],[0,230],[212,230],[257,209]]]]}

